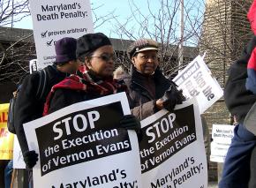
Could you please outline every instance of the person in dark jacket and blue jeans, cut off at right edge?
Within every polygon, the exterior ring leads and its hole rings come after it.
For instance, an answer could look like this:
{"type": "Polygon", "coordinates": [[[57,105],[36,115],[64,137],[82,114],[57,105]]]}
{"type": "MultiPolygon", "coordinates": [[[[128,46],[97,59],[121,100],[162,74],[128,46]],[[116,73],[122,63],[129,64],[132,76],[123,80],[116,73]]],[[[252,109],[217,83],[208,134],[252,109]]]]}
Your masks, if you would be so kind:
{"type": "Polygon", "coordinates": [[[256,146],[256,137],[245,128],[244,119],[252,104],[256,102],[256,95],[247,91],[247,63],[256,47],[256,36],[248,42],[242,56],[231,65],[229,79],[224,89],[224,99],[230,113],[237,117],[239,124],[234,129],[234,137],[222,171],[220,188],[247,188],[250,178],[250,160],[252,148],[256,146]]]}

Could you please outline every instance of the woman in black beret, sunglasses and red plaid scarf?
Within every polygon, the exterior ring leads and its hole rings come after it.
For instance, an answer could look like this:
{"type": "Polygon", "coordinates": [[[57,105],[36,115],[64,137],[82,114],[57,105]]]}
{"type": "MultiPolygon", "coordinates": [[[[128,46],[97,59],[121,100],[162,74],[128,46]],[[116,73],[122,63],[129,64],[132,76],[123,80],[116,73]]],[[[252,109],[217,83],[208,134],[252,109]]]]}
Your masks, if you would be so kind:
{"type": "MultiPolygon", "coordinates": [[[[44,115],[76,102],[126,90],[124,84],[113,79],[114,50],[106,35],[96,33],[81,36],[77,42],[76,53],[79,61],[86,65],[86,71],[80,75],[73,74],[52,87],[44,106],[44,115]]],[[[132,115],[124,116],[119,125],[125,129],[140,128],[139,121],[132,115]]],[[[34,167],[38,158],[32,157],[28,161],[34,167]]]]}

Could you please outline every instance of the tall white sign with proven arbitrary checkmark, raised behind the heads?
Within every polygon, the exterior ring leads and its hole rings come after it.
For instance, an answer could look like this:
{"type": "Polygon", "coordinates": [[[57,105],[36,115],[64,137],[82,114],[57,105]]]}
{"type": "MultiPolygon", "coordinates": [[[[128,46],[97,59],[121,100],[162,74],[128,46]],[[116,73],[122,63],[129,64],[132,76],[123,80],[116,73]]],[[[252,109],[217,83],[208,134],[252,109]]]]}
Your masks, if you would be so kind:
{"type": "Polygon", "coordinates": [[[57,40],[94,32],[89,0],[29,0],[29,4],[39,69],[55,61],[57,40]]]}

